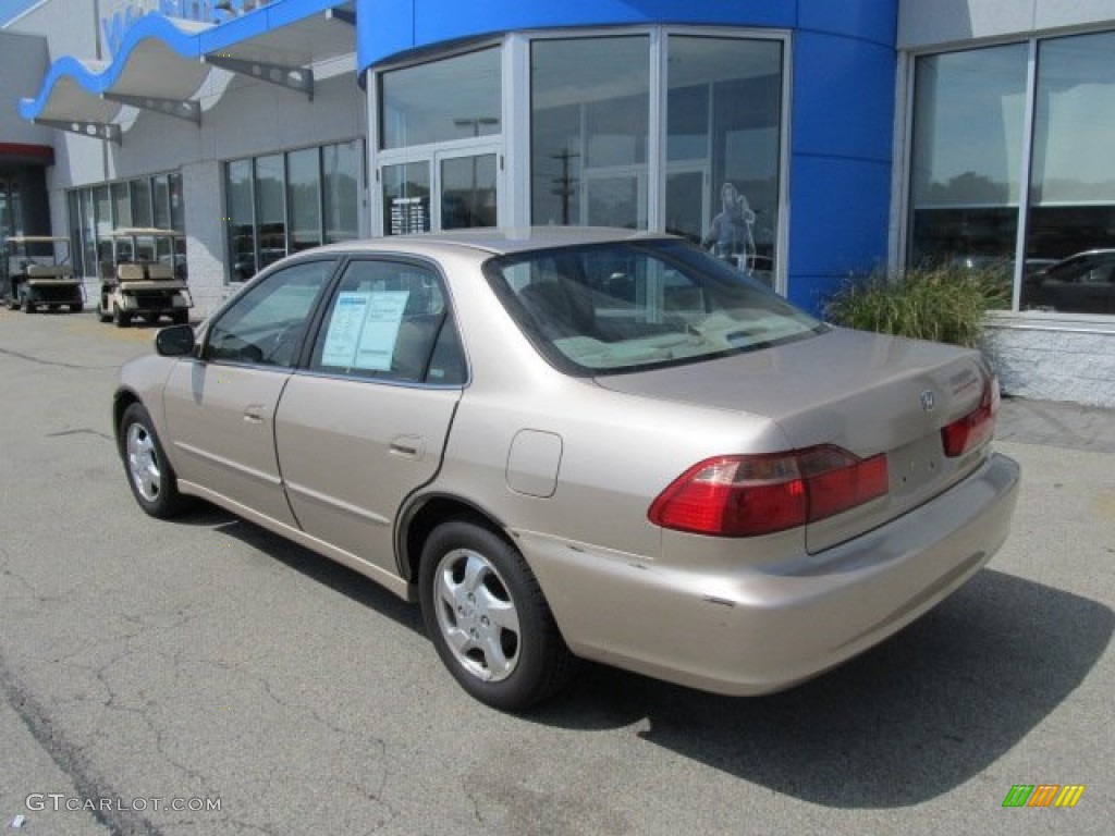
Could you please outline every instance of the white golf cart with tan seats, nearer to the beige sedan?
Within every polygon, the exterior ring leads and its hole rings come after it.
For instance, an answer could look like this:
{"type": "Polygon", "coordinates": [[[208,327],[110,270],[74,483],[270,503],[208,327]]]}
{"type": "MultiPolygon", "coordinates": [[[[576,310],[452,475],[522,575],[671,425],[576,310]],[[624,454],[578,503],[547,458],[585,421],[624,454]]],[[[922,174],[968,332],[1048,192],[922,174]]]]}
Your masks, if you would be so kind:
{"type": "Polygon", "coordinates": [[[140,317],[184,323],[194,301],[185,278],[185,256],[178,252],[182,233],[174,230],[122,229],[101,239],[100,299],[97,315],[118,328],[140,317]]]}

